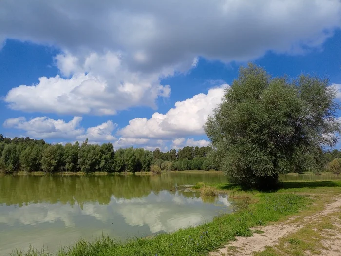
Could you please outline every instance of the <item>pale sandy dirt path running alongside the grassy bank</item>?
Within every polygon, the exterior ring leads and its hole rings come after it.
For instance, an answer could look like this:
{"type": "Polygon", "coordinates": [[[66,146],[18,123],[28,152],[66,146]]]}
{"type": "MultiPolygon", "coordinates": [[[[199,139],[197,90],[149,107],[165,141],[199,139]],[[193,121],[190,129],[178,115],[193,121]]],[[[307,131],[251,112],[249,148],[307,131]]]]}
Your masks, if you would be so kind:
{"type": "MultiPolygon", "coordinates": [[[[341,197],[337,198],[332,203],[326,205],[325,209],[312,216],[305,217],[300,223],[292,223],[297,217],[292,217],[284,223],[275,225],[257,227],[257,230],[261,230],[262,234],[254,233],[251,237],[237,237],[236,241],[230,242],[227,246],[219,249],[216,252],[211,252],[209,256],[251,256],[255,252],[261,252],[265,250],[265,246],[274,246],[278,244],[278,239],[294,233],[299,229],[306,226],[312,221],[318,221],[320,217],[330,215],[332,213],[340,211],[341,197]]],[[[334,223],[339,226],[340,223],[334,223]]],[[[253,229],[255,230],[255,229],[253,229]]],[[[341,234],[335,234],[336,239],[333,241],[323,240],[322,243],[329,250],[322,250],[320,255],[328,256],[340,256],[341,252],[334,252],[335,248],[341,248],[341,234]],[[340,239],[339,239],[340,238],[340,239]],[[335,253],[335,254],[334,254],[335,253]]]]}

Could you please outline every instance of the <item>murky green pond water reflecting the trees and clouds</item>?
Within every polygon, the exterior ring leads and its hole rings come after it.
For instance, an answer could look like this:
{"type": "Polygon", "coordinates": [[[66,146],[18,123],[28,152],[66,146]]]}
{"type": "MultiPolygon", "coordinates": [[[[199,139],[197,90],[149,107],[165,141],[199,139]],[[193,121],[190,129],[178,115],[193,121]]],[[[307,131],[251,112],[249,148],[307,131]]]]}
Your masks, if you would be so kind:
{"type": "Polygon", "coordinates": [[[0,176],[0,255],[14,248],[56,250],[81,237],[126,239],[210,221],[233,207],[186,185],[226,182],[222,174],[0,176]]]}

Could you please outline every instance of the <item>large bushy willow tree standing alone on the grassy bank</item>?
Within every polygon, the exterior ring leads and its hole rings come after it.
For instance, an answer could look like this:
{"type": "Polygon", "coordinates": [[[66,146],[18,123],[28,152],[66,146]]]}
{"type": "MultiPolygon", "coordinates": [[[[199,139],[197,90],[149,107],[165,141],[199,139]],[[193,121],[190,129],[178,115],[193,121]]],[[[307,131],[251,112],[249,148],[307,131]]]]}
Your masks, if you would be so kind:
{"type": "Polygon", "coordinates": [[[279,174],[322,168],[322,147],[340,132],[336,91],[327,79],[272,78],[242,67],[204,128],[231,181],[272,188],[279,174]]]}

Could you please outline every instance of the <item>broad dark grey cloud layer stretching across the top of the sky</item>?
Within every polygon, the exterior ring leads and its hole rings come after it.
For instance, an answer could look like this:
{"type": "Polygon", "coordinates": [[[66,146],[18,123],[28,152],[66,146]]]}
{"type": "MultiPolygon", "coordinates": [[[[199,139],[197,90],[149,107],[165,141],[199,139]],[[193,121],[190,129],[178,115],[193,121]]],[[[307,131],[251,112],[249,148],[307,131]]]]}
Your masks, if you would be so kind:
{"type": "Polygon", "coordinates": [[[341,25],[339,0],[2,0],[0,38],[80,52],[122,50],[138,70],[301,53],[341,25]],[[21,8],[19,9],[18,6],[21,8]]]}

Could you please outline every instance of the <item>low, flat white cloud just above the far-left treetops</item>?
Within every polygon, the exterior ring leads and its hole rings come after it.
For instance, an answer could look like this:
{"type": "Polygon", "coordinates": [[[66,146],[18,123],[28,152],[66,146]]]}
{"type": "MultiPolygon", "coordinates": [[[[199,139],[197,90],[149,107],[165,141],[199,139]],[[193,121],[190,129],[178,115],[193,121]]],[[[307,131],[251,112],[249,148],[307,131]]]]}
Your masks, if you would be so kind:
{"type": "Polygon", "coordinates": [[[37,117],[26,120],[24,117],[9,118],[3,123],[6,128],[23,130],[26,135],[38,139],[68,139],[84,140],[86,138],[94,143],[112,141],[116,138],[112,135],[117,124],[112,121],[104,122],[86,130],[80,127],[81,117],[74,117],[69,122],[62,119],[54,120],[47,117],[37,117]]]}

